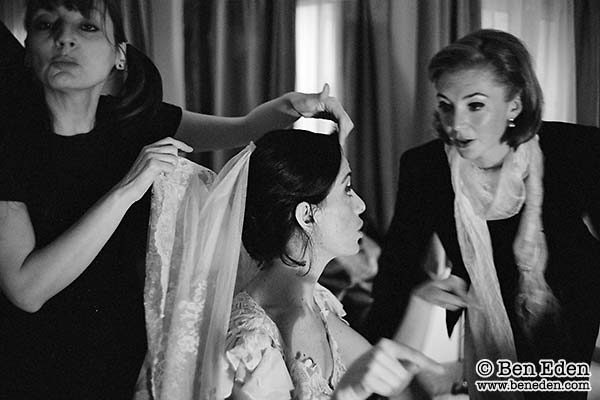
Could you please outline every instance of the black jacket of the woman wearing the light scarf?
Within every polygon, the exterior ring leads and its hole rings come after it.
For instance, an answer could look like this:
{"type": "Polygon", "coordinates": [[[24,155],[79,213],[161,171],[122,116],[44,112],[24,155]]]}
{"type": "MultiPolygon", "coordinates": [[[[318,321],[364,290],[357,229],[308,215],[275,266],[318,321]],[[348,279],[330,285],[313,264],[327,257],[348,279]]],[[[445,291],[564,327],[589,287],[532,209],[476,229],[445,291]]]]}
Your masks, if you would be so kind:
{"type": "MultiPolygon", "coordinates": [[[[565,358],[589,363],[600,321],[600,242],[590,234],[582,216],[587,215],[595,228],[600,228],[600,129],[544,122],[539,135],[544,154],[542,219],[549,253],[546,278],[561,303],[558,325],[549,322],[531,342],[517,324],[514,299],[519,275],[512,245],[520,214],[488,221],[494,264],[519,360],[565,358]]],[[[411,290],[428,279],[421,265],[434,232],[452,262],[452,273],[469,282],[456,235],[454,191],[441,140],[409,150],[401,158],[394,218],[379,259],[374,303],[365,324],[365,335],[371,341],[394,335],[411,290]]],[[[458,316],[447,312],[449,330],[458,316]]]]}

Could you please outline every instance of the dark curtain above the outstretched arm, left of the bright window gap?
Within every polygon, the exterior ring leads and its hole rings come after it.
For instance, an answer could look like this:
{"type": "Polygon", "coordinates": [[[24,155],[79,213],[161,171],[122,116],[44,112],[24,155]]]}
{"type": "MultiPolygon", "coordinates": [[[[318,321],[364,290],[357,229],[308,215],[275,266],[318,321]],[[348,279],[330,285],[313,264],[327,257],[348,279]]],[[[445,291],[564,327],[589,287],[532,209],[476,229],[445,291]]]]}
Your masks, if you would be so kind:
{"type": "MultiPolygon", "coordinates": [[[[295,0],[186,0],[184,10],[190,111],[245,115],[294,90],[295,0]]],[[[218,170],[235,153],[195,161],[218,170]]]]}

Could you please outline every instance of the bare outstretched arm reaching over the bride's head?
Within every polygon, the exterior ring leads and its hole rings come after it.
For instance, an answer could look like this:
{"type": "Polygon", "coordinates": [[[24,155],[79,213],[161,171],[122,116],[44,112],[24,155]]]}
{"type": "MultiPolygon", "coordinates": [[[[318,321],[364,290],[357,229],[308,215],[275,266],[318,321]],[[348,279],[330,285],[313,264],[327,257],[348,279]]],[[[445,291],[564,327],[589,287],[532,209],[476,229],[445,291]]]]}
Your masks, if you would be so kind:
{"type": "Polygon", "coordinates": [[[332,119],[339,124],[340,140],[354,128],[350,117],[329,86],[320,93],[290,92],[263,103],[243,117],[217,117],[184,111],[175,138],[194,151],[241,147],[263,133],[289,127],[300,117],[332,119]]]}

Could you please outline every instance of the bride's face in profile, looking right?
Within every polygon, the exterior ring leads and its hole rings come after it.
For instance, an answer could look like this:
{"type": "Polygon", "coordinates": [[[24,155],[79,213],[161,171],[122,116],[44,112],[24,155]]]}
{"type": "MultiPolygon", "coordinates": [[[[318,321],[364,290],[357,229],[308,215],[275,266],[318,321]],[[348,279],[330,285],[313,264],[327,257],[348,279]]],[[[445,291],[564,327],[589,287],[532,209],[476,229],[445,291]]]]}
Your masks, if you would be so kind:
{"type": "Polygon", "coordinates": [[[325,200],[314,212],[316,248],[332,258],[358,253],[365,203],[352,188],[350,165],[342,157],[340,171],[325,200]]]}

